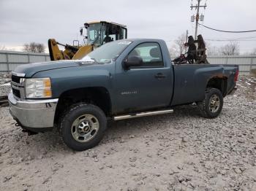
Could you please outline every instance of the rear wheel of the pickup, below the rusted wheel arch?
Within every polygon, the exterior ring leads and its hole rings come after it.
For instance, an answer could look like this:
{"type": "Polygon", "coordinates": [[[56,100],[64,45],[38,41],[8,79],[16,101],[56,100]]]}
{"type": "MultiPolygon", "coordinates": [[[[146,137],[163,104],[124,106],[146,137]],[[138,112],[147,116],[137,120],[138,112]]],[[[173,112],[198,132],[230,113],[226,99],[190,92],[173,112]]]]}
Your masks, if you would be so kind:
{"type": "Polygon", "coordinates": [[[223,96],[220,90],[216,88],[206,89],[205,98],[198,103],[200,114],[209,119],[218,117],[222,112],[222,106],[223,96]]]}

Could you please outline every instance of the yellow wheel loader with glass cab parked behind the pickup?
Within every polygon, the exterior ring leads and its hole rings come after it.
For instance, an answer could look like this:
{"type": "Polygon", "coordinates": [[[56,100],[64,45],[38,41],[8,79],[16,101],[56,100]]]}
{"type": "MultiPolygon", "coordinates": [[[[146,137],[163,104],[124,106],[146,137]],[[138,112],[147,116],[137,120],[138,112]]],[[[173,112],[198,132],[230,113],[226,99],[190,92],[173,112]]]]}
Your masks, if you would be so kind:
{"type": "MultiPolygon", "coordinates": [[[[87,31],[83,39],[84,45],[80,45],[77,40],[73,41],[73,45],[69,45],[56,42],[55,39],[48,39],[50,60],[78,60],[102,44],[127,39],[127,27],[118,23],[98,21],[85,23],[83,28],[87,31]],[[78,44],[75,45],[75,42],[78,44]],[[63,46],[64,50],[60,50],[59,45],[63,46]]],[[[83,28],[80,28],[81,36],[83,36],[83,28]]]]}

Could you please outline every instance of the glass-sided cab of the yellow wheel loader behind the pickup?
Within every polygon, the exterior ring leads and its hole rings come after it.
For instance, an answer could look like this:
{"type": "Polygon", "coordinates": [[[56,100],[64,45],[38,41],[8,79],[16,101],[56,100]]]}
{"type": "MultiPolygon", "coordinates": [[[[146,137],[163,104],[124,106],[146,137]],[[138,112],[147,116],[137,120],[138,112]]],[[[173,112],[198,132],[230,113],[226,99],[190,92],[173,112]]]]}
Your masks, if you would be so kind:
{"type": "Polygon", "coordinates": [[[127,27],[106,21],[84,24],[87,31],[87,43],[99,47],[102,44],[127,39],[127,27]]]}

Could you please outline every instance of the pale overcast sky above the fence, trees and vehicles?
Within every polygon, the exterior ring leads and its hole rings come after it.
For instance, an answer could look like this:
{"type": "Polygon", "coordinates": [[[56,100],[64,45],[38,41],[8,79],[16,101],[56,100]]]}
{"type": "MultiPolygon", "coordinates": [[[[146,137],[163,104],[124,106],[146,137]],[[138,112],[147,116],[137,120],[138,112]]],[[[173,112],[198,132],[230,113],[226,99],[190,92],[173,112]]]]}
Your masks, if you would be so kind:
{"type": "MultiPolygon", "coordinates": [[[[192,1],[195,4],[195,0],[192,1]]],[[[204,4],[206,0],[201,0],[204,4]]],[[[49,38],[72,44],[80,38],[83,23],[107,20],[121,23],[128,28],[128,38],[165,39],[171,47],[173,40],[186,30],[195,33],[195,23],[190,22],[195,9],[191,0],[0,0],[0,47],[22,46],[24,43],[41,42],[47,45],[49,38]]],[[[255,0],[208,0],[204,25],[228,31],[255,30],[255,0]]],[[[247,34],[223,34],[199,28],[206,42],[221,46],[227,42],[207,39],[238,39],[241,52],[256,48],[256,32],[247,34]]]]}

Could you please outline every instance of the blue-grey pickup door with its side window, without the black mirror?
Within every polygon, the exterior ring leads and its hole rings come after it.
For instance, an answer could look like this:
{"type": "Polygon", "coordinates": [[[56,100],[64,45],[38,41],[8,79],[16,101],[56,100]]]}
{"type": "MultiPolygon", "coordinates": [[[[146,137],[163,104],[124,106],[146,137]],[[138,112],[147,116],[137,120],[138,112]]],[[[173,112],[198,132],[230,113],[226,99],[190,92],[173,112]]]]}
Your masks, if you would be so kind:
{"type": "MultiPolygon", "coordinates": [[[[170,67],[166,67],[157,42],[138,44],[129,56],[140,56],[142,66],[116,71],[116,109],[135,112],[167,106],[171,98],[170,67]]],[[[121,63],[118,63],[120,66],[121,63]]]]}

